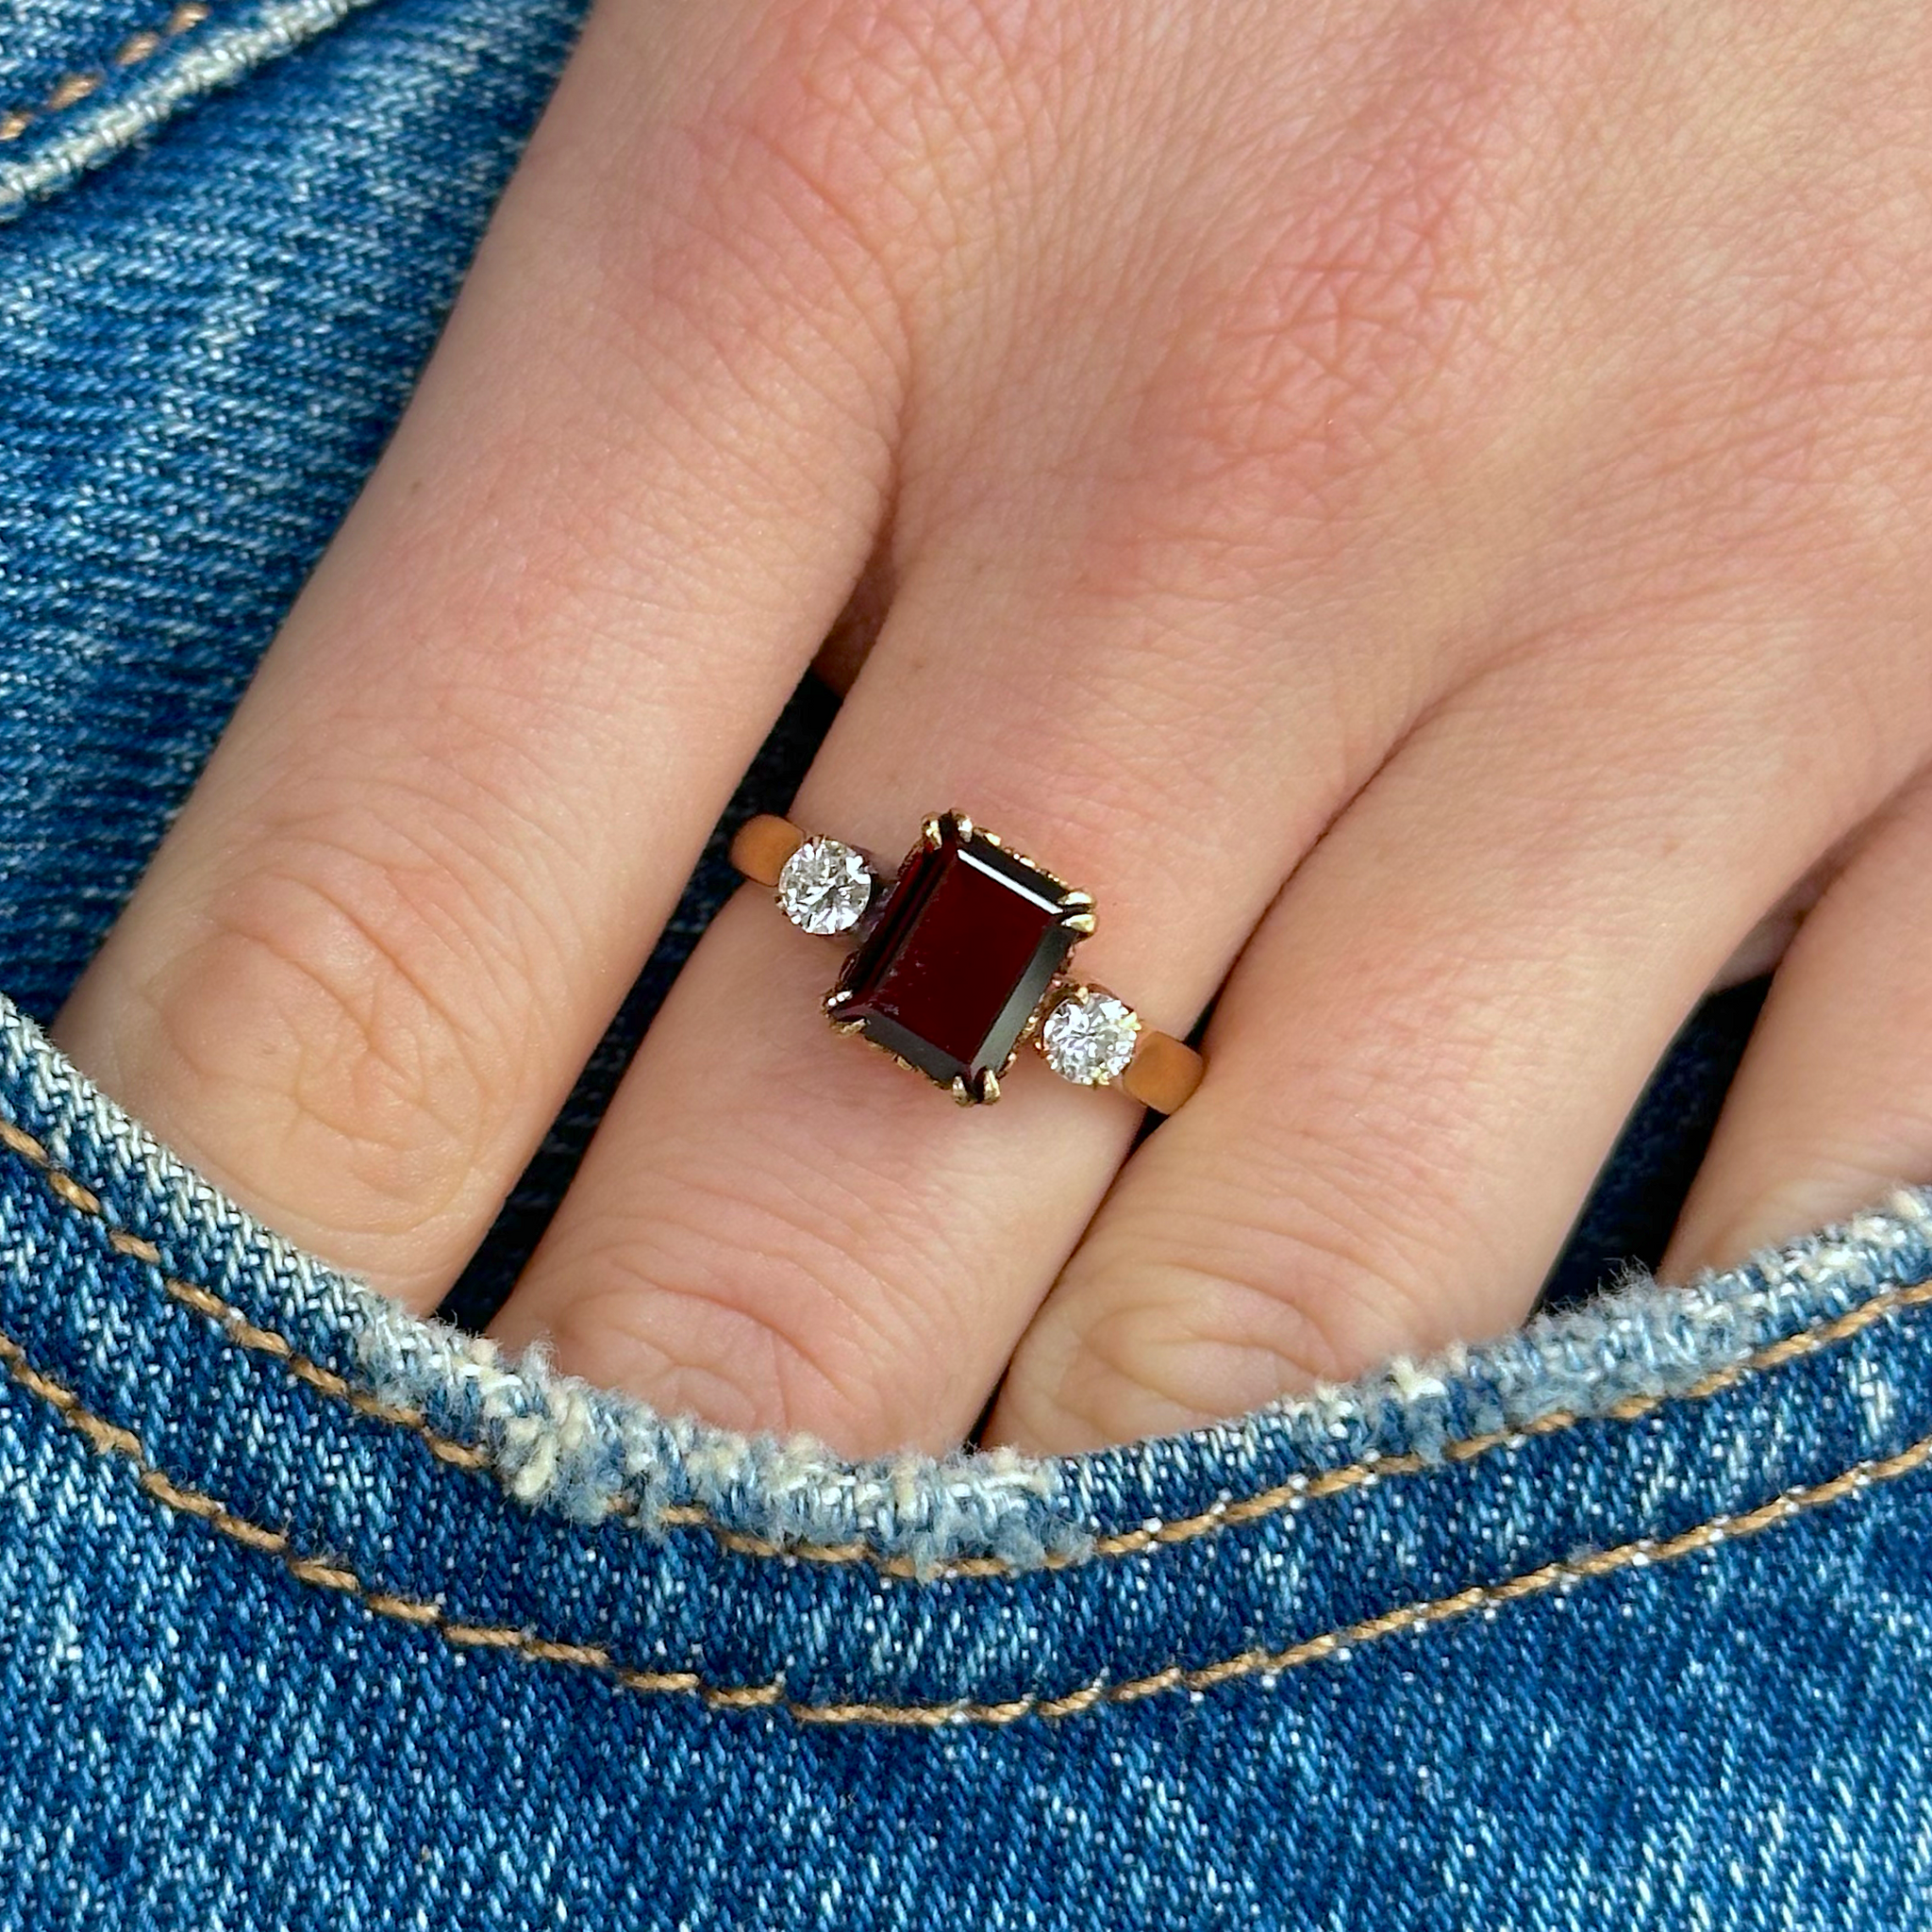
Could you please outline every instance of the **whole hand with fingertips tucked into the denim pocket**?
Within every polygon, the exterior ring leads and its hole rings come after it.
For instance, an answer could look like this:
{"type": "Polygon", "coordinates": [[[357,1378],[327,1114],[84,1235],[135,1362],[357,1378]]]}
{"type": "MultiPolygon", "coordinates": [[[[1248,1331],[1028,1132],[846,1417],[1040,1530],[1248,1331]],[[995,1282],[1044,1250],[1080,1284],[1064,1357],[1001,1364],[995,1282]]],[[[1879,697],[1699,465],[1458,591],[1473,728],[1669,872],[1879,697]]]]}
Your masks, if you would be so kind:
{"type": "Polygon", "coordinates": [[[1493,1335],[1789,941],[1737,1260],[1932,1175],[1926,286],[1899,0],[603,0],[58,1036],[427,1310],[823,653],[794,815],[968,808],[1208,1078],[960,1113],[748,889],[508,1345],[871,1453],[1493,1335]]]}

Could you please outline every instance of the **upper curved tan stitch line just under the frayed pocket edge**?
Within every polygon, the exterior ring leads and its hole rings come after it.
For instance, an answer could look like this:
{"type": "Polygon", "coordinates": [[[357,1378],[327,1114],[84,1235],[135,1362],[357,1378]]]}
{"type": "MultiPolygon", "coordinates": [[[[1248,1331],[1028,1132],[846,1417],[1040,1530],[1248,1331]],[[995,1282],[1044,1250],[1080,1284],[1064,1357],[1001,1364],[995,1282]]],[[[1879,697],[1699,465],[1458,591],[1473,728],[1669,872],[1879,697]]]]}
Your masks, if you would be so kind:
{"type": "MultiPolygon", "coordinates": [[[[141,1235],[133,1235],[108,1219],[106,1208],[93,1188],[75,1180],[73,1175],[58,1167],[43,1142],[35,1140],[33,1134],[4,1117],[0,1117],[0,1146],[17,1153],[23,1161],[37,1169],[62,1206],[99,1221],[102,1229],[106,1229],[108,1246],[112,1246],[116,1254],[126,1254],[135,1262],[145,1262],[149,1267],[160,1269],[162,1289],[166,1289],[174,1300],[184,1302],[187,1308],[193,1308],[197,1314],[216,1323],[216,1327],[220,1327],[220,1331],[236,1347],[272,1356],[298,1381],[307,1383],[330,1401],[346,1403],[361,1416],[371,1416],[377,1422],[388,1422],[396,1428],[410,1430],[429,1445],[429,1451],[435,1457],[454,1464],[456,1468],[491,1468],[493,1457],[487,1449],[442,1435],[421,1410],[404,1408],[396,1403],[384,1403],[365,1389],[357,1389],[332,1368],[325,1368],[321,1362],[305,1356],[292,1341],[288,1341],[286,1335],[278,1335],[274,1329],[249,1321],[240,1308],[226,1302],[213,1289],[170,1275],[166,1271],[166,1264],[162,1262],[160,1248],[155,1242],[141,1235]]],[[[1766,1343],[1766,1347],[1752,1350],[1725,1368],[1710,1370],[1675,1393],[1627,1395],[1623,1401],[1611,1403],[1607,1408],[1592,1414],[1557,1408],[1549,1414],[1536,1416],[1515,1430],[1488,1430],[1480,1435],[1464,1435],[1453,1443],[1445,1443],[1439,1455],[1449,1463],[1474,1463],[1480,1457],[1490,1455],[1493,1449],[1515,1449],[1530,1437],[1555,1435],[1563,1430],[1577,1428],[1582,1422],[1634,1422],[1656,1408],[1663,1408],[1667,1403],[1698,1403],[1723,1389],[1735,1387],[1752,1376],[1762,1376],[1764,1372],[1779,1368],[1785,1362],[1795,1362],[1806,1354],[1816,1354],[1820,1349],[1833,1343],[1847,1341],[1849,1337],[1870,1327],[1874,1321],[1882,1321],[1907,1308],[1920,1308],[1926,1302],[1932,1302],[1932,1279],[1884,1289],[1868,1300],[1859,1302],[1857,1308],[1847,1308],[1845,1314],[1833,1316],[1830,1321],[1820,1321],[1814,1327],[1799,1329],[1795,1335],[1785,1335],[1779,1341],[1766,1343]]],[[[887,1555],[873,1549],[869,1544],[860,1542],[775,1544],[763,1536],[752,1536],[744,1530],[719,1522],[701,1503],[672,1503],[670,1507],[659,1511],[653,1522],[665,1528],[707,1530],[734,1555],[796,1559],[802,1563],[864,1563],[879,1571],[883,1577],[906,1582],[923,1582],[927,1578],[943,1577],[1016,1577],[1024,1575],[1030,1567],[1049,1571],[1078,1569],[1084,1563],[1140,1555],[1148,1549],[1165,1548],[1169,1544],[1194,1542],[1225,1528],[1283,1515],[1291,1509],[1298,1509],[1304,1501],[1343,1495],[1349,1490],[1360,1490],[1368,1484],[1381,1482],[1385,1476],[1420,1476],[1434,1466],[1437,1466],[1434,1459],[1422,1457],[1416,1451],[1403,1451],[1399,1455],[1366,1457],[1360,1463],[1318,1470],[1312,1476],[1296,1472],[1287,1482],[1275,1484],[1269,1490],[1215,1503],[1213,1507],[1192,1517],[1177,1517],[1169,1522],[1148,1522],[1132,1530],[1095,1536],[1094,1542],[1078,1553],[1047,1551],[1047,1555],[1036,1565],[1018,1565],[1007,1561],[1005,1557],[954,1557],[947,1563],[935,1563],[920,1569],[912,1557],[887,1555]]],[[[616,1503],[611,1507],[612,1511],[618,1509],[616,1503]]]]}

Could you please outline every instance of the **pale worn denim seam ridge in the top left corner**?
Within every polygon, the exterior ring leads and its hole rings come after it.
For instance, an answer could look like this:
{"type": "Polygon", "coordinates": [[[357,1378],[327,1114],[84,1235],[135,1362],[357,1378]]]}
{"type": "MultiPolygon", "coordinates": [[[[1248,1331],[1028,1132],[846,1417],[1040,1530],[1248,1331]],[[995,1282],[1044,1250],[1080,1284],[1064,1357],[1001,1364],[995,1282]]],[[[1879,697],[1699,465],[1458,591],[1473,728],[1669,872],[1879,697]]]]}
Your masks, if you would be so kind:
{"type": "Polygon", "coordinates": [[[0,222],[23,214],[153,133],[180,108],[340,25],[377,0],[261,0],[232,21],[211,19],[73,106],[54,108],[0,160],[0,222]]]}

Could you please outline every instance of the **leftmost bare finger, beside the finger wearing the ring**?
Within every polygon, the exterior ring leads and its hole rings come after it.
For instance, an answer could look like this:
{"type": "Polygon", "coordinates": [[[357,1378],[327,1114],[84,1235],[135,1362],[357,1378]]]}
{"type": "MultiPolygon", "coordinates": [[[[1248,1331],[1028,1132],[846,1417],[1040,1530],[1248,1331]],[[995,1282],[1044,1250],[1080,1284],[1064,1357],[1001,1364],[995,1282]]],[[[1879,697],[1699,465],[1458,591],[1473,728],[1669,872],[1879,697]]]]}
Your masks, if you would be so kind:
{"type": "Polygon", "coordinates": [[[757,8],[607,8],[421,390],[60,1018],[288,1235],[435,1302],[860,578],[893,301],[757,8]]]}

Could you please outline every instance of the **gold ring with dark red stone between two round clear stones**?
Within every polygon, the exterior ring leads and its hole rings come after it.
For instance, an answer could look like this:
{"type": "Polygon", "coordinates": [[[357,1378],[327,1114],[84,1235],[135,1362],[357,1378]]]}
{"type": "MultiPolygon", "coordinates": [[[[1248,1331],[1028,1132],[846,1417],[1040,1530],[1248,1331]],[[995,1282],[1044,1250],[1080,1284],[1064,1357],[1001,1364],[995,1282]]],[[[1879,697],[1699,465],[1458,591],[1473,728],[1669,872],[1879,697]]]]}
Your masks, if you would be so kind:
{"type": "Polygon", "coordinates": [[[962,1107],[999,1099],[1020,1047],[1076,1086],[1119,1086],[1173,1113],[1202,1057],[1144,1026],[1126,1001],[1066,970],[1094,931],[1094,900],[1009,850],[964,811],[943,811],[896,871],[858,846],[755,817],[730,848],[802,931],[852,943],[825,1012],[962,1107]]]}

